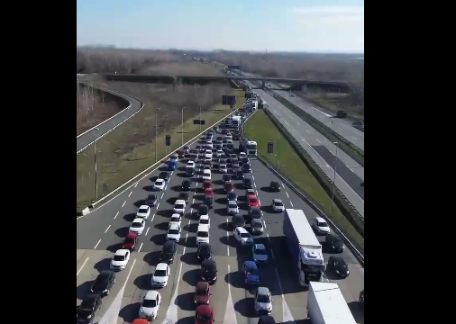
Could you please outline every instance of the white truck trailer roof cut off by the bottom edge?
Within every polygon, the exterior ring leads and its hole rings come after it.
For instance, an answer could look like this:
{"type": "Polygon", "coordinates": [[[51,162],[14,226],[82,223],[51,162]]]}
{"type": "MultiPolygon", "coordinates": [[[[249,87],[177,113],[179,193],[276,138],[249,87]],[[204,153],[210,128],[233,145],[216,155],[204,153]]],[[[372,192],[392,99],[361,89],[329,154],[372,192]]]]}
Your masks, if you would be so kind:
{"type": "Polygon", "coordinates": [[[307,317],[312,324],[356,324],[337,284],[311,282],[307,317]]]}

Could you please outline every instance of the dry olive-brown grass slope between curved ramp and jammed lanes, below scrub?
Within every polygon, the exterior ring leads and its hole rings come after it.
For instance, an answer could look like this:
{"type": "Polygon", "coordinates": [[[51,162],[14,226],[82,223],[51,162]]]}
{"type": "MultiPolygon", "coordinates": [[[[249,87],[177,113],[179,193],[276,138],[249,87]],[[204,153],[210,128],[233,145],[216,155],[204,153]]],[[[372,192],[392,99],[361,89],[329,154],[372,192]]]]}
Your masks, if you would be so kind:
{"type": "MultiPolygon", "coordinates": [[[[245,102],[244,92],[234,90],[234,93],[237,96],[238,106],[240,106],[245,102]]],[[[202,119],[205,120],[205,126],[202,126],[201,130],[205,130],[231,112],[233,110],[224,105],[216,105],[209,111],[203,112],[202,119]]],[[[98,184],[97,198],[100,199],[181,146],[182,127],[180,122],[177,121],[178,126],[176,126],[176,122],[174,126],[170,126],[167,116],[162,116],[162,120],[159,116],[159,136],[155,139],[155,114],[155,107],[148,104],[131,120],[125,121],[117,129],[96,142],[97,181],[94,146],[87,148],[77,156],[77,214],[96,201],[96,182],[98,184]],[[171,135],[170,148],[165,146],[167,134],[171,135]],[[155,143],[157,143],[157,159],[155,158],[155,143]]],[[[198,117],[198,114],[185,116],[184,143],[200,133],[200,126],[193,124],[193,120],[198,117]]]]}

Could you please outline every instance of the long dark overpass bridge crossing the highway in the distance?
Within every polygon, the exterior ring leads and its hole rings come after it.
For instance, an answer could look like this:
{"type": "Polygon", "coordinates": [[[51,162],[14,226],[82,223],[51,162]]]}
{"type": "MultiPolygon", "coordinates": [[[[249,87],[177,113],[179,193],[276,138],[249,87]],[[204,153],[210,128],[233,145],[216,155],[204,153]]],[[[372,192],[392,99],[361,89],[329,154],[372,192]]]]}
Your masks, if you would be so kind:
{"type": "Polygon", "coordinates": [[[288,88],[278,90],[301,90],[303,86],[308,88],[319,88],[328,92],[350,93],[350,86],[341,82],[315,81],[287,77],[269,76],[154,76],[154,75],[135,75],[135,74],[104,74],[102,75],[109,81],[143,82],[143,83],[165,83],[165,84],[184,84],[184,85],[205,85],[208,83],[226,83],[230,80],[259,81],[260,88],[265,88],[268,82],[274,84],[287,84],[288,88]]]}

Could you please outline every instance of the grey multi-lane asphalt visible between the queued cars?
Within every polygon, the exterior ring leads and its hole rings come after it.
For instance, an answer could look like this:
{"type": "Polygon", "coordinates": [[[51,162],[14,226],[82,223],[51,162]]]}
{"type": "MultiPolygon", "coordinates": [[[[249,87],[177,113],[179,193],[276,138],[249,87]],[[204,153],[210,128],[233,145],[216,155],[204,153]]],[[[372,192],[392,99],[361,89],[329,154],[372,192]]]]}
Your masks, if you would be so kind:
{"type": "MultiPolygon", "coordinates": [[[[195,145],[198,145],[197,143],[195,145]]],[[[195,145],[193,147],[195,147],[195,145]]],[[[237,147],[238,143],[234,142],[237,147]]],[[[129,266],[117,275],[117,282],[110,296],[105,297],[104,306],[96,314],[99,324],[131,323],[136,318],[141,296],[150,290],[150,277],[154,266],[158,264],[160,249],[165,242],[169,216],[178,193],[180,184],[186,177],[183,173],[187,160],[179,162],[179,169],[173,172],[169,184],[160,193],[160,202],[152,209],[147,220],[145,233],[141,236],[137,252],[132,253],[129,266]],[[119,317],[117,319],[117,316],[119,317]]],[[[269,287],[274,295],[272,316],[278,323],[293,323],[306,319],[306,290],[297,283],[296,270],[284,257],[283,250],[283,214],[272,213],[270,203],[279,198],[287,208],[302,209],[309,219],[315,218],[315,212],[303,202],[287,185],[282,184],[280,193],[269,193],[270,181],[279,181],[269,169],[256,158],[251,158],[252,173],[247,174],[254,183],[258,193],[264,221],[265,234],[256,238],[264,243],[271,258],[269,266],[260,267],[261,283],[269,287]]],[[[99,271],[109,267],[110,257],[119,247],[128,232],[138,206],[150,193],[152,181],[160,169],[144,176],[132,187],[114,197],[110,202],[77,220],[77,305],[87,293],[91,281],[99,271]]],[[[211,246],[218,268],[218,282],[213,286],[211,305],[214,306],[215,322],[224,324],[253,324],[258,318],[252,311],[252,295],[242,284],[239,272],[242,263],[250,259],[249,249],[237,247],[228,227],[231,217],[226,215],[225,194],[223,193],[222,175],[213,173],[214,210],[211,216],[211,246]]],[[[234,181],[235,192],[241,200],[241,214],[247,208],[242,196],[245,190],[241,181],[234,181]]],[[[160,290],[162,303],[156,323],[193,323],[195,305],[193,293],[198,281],[199,266],[196,263],[196,217],[193,211],[201,203],[199,175],[193,178],[195,190],[190,194],[190,205],[187,206],[183,219],[183,232],[178,247],[178,258],[171,266],[169,285],[160,290]]],[[[363,323],[363,311],[360,308],[358,295],[364,289],[364,269],[349,250],[343,253],[350,265],[351,275],[344,280],[328,278],[340,285],[343,296],[349,303],[358,323],[363,323]]],[[[329,257],[324,255],[325,259],[329,257]]]]}

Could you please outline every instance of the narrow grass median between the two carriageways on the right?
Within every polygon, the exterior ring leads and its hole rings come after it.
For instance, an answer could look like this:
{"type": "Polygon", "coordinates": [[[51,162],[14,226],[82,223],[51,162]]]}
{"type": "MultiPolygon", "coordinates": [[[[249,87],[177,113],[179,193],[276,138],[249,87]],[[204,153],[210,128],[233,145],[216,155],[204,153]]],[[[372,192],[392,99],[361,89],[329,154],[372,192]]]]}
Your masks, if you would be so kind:
{"type": "Polygon", "coordinates": [[[288,102],[286,99],[281,97],[278,94],[271,93],[272,96],[279,102],[289,108],[296,116],[300,117],[303,121],[306,121],[312,128],[322,134],[326,139],[331,140],[332,142],[338,142],[339,148],[342,149],[348,156],[354,159],[364,167],[364,151],[358,148],[356,145],[351,143],[349,140],[343,138],[341,135],[331,130],[331,128],[324,125],[322,122],[316,120],[313,116],[304,112],[299,107],[296,107],[295,104],[288,102]]]}

